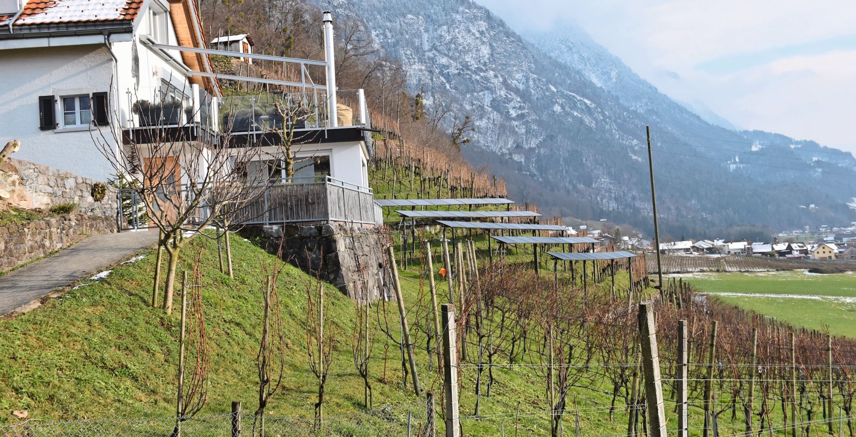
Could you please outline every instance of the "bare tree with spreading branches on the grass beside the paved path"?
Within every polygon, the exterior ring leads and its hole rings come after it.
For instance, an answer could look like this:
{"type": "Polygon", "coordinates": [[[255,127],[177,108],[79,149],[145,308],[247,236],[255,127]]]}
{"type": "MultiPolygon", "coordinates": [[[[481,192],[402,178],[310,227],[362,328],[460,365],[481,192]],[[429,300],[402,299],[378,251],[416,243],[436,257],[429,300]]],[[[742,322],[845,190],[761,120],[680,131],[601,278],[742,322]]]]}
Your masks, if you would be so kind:
{"type": "MultiPolygon", "coordinates": [[[[147,224],[160,233],[158,247],[168,257],[163,298],[167,314],[172,311],[179,255],[188,238],[200,234],[224,211],[241,210],[253,202],[267,183],[259,175],[247,174],[242,165],[259,160],[258,147],[231,147],[228,139],[205,133],[188,136],[185,127],[196,128],[192,119],[188,116],[181,127],[149,127],[125,138],[112,129],[92,132],[116,174],[133,181],[124,190],[133,193],[146,210],[147,224]]],[[[159,281],[160,263],[154,276],[159,281]]],[[[152,304],[157,304],[158,281],[152,304]]]]}

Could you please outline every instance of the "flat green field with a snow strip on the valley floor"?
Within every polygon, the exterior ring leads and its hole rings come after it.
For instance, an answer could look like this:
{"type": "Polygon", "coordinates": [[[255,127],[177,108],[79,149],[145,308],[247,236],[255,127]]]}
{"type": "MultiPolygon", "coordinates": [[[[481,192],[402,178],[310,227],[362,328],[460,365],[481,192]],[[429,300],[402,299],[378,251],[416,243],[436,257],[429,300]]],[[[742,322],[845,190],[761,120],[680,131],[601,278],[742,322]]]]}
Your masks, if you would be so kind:
{"type": "Polygon", "coordinates": [[[682,275],[728,304],[831,334],[856,337],[856,276],[803,271],[682,275]],[[741,296],[745,295],[745,296],[741,296]]]}

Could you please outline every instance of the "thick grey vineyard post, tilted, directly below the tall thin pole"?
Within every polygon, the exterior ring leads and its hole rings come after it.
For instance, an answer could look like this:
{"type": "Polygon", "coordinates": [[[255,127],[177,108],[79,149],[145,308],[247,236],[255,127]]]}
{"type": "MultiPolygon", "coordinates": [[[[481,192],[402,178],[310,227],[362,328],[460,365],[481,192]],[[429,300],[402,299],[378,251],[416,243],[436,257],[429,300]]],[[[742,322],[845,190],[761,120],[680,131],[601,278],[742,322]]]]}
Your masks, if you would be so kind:
{"type": "Polygon", "coordinates": [[[648,435],[666,437],[666,410],[660,381],[660,356],[657,351],[657,325],[648,303],[639,304],[639,340],[642,343],[642,369],[645,375],[645,405],[648,410],[648,435]]]}

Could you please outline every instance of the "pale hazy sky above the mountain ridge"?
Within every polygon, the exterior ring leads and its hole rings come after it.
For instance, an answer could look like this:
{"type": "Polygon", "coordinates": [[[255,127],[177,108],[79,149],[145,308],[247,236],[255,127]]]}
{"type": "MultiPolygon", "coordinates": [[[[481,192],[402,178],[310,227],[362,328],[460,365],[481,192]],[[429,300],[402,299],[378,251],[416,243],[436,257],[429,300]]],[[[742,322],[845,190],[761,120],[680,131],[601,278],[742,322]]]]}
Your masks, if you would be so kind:
{"type": "Polygon", "coordinates": [[[575,24],[738,127],[856,151],[854,0],[476,1],[515,30],[575,24]]]}

